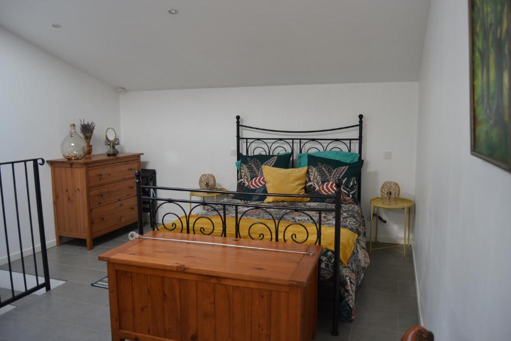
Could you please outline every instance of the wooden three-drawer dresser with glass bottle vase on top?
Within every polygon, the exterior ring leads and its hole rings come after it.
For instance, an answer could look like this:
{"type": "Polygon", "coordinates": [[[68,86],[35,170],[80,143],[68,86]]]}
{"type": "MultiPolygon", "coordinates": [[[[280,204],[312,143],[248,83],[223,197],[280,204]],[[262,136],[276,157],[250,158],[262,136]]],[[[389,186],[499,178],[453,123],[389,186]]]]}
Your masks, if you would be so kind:
{"type": "Polygon", "coordinates": [[[137,221],[135,170],[142,153],[49,160],[57,245],[62,237],[87,240],[137,221]]]}

